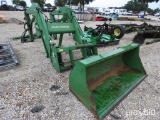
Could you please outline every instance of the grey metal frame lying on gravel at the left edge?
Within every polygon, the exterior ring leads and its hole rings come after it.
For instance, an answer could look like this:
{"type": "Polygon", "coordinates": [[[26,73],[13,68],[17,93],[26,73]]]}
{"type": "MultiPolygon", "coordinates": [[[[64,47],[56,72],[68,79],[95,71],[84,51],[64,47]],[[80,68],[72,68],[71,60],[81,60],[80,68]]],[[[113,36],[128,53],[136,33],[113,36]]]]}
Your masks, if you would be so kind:
{"type": "Polygon", "coordinates": [[[0,71],[19,64],[10,43],[0,44],[0,71]]]}

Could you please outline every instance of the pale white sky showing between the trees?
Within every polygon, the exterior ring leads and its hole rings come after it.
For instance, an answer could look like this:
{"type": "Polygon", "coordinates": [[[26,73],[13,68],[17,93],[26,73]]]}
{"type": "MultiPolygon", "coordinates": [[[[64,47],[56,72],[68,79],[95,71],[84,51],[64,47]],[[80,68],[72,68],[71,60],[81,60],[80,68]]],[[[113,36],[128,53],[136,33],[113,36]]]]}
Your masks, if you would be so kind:
{"type": "MultiPolygon", "coordinates": [[[[4,1],[4,0],[0,0],[4,1]]],[[[6,0],[8,5],[12,5],[12,0],[6,0]]],[[[30,0],[24,0],[29,7],[31,5],[30,0]]],[[[122,7],[130,0],[94,0],[89,4],[91,7],[122,7]]],[[[54,5],[54,0],[46,0],[47,3],[54,5]]],[[[156,9],[160,8],[160,1],[158,3],[150,3],[149,8],[156,9]]]]}

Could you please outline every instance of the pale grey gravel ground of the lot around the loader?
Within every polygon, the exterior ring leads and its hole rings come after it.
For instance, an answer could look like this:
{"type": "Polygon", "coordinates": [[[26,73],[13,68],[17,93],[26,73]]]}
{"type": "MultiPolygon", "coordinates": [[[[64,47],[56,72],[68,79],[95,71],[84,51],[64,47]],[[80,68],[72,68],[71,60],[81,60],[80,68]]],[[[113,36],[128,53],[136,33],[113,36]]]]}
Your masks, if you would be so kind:
{"type": "MultiPolygon", "coordinates": [[[[0,72],[0,119],[1,120],[95,120],[92,113],[69,91],[71,70],[58,73],[46,58],[40,39],[22,44],[10,38],[20,36],[23,25],[17,25],[11,18],[23,20],[23,12],[0,11],[5,23],[0,24],[0,43],[9,41],[20,65],[0,72]],[[56,85],[58,87],[54,87],[56,85]],[[52,88],[52,89],[51,89],[52,88]],[[36,107],[41,110],[37,111],[36,107]]],[[[149,21],[159,25],[159,19],[149,21]]],[[[85,22],[80,26],[92,26],[103,22],[85,22]]],[[[130,21],[113,21],[113,24],[130,21]]],[[[141,24],[142,22],[133,22],[141,24]]],[[[132,43],[136,33],[126,34],[119,45],[99,48],[99,53],[112,51],[132,43]]],[[[148,39],[148,41],[151,39],[148,39]]],[[[64,45],[71,45],[72,39],[66,34],[64,45]]],[[[160,42],[142,45],[140,57],[148,77],[117,106],[105,120],[160,120],[160,42]],[[141,114],[142,113],[142,114],[141,114]],[[145,114],[144,114],[145,113],[145,114]],[[148,113],[148,115],[147,115],[148,113]]]]}

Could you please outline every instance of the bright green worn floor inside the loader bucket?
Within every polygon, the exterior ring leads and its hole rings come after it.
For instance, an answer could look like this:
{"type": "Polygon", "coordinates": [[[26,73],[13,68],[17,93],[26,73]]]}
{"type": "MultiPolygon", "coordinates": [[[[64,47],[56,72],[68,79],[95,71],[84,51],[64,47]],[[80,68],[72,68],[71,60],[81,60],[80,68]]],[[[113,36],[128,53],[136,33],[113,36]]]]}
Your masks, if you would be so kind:
{"type": "Polygon", "coordinates": [[[116,104],[122,96],[130,92],[130,88],[135,86],[137,82],[141,81],[144,74],[136,74],[126,72],[122,75],[115,75],[108,78],[102,85],[98,86],[92,91],[94,96],[96,110],[100,117],[105,115],[105,112],[116,104]]]}

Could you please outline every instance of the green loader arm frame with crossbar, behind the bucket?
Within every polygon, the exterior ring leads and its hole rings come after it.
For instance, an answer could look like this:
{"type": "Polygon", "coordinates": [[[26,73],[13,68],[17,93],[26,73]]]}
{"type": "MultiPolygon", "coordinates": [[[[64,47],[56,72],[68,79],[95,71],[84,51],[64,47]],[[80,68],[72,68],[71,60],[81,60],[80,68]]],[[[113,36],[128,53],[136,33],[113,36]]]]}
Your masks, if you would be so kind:
{"type": "Polygon", "coordinates": [[[37,3],[32,3],[32,6],[29,7],[24,14],[31,41],[34,40],[32,26],[35,21],[36,23],[34,26],[38,34],[41,35],[47,58],[51,59],[52,65],[57,71],[61,72],[74,66],[75,63],[72,51],[75,49],[81,49],[83,58],[98,54],[98,45],[96,46],[95,43],[92,43],[91,38],[87,38],[89,42],[85,40],[74,12],[69,7],[63,7],[56,12],[50,13],[50,19],[48,19],[42,13],[40,6],[37,3]],[[57,22],[54,17],[56,14],[63,15],[59,22],[57,22]],[[76,42],[75,46],[62,47],[63,34],[65,33],[73,34],[73,39],[76,42]],[[60,34],[58,45],[51,39],[52,35],[54,36],[57,34],[60,34]],[[62,52],[69,52],[70,65],[66,66],[63,62],[62,52]]]}

